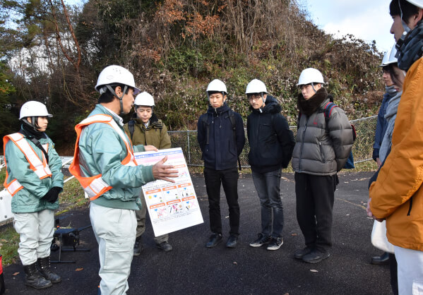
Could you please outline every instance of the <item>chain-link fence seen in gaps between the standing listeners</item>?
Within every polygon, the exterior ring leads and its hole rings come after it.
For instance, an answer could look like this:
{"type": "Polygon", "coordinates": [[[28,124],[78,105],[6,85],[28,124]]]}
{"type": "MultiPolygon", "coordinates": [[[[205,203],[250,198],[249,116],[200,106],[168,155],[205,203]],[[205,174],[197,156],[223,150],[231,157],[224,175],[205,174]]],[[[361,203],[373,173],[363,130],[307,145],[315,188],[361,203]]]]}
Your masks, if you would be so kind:
{"type": "MultiPolygon", "coordinates": [[[[374,143],[374,131],[376,130],[377,116],[357,119],[351,121],[357,131],[357,139],[352,147],[354,162],[364,162],[371,159],[374,143]]],[[[297,132],[297,126],[291,126],[294,134],[297,132]]],[[[197,131],[169,131],[172,140],[172,148],[182,148],[189,166],[203,166],[201,159],[201,150],[197,142],[197,131]]],[[[242,150],[241,166],[249,167],[248,164],[249,142],[246,140],[244,150],[242,150]]]]}

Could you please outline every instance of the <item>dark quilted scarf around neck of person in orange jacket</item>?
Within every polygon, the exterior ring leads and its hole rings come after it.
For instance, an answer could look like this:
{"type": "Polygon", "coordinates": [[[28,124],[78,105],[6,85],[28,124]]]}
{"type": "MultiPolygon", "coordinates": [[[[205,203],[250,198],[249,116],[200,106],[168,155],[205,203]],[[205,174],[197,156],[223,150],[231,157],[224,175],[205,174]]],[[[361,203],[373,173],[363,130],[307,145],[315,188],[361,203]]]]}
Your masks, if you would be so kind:
{"type": "Polygon", "coordinates": [[[422,57],[423,53],[423,22],[419,21],[417,27],[412,29],[405,37],[404,43],[398,49],[398,68],[408,71],[410,66],[417,59],[422,57]]]}

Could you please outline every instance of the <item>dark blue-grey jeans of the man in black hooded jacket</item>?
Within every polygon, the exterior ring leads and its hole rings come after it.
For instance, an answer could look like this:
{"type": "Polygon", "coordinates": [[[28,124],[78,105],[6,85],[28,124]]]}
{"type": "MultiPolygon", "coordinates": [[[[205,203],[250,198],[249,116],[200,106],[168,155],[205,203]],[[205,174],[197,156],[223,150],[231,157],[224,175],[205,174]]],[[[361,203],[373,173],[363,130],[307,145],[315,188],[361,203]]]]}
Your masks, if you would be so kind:
{"type": "Polygon", "coordinates": [[[266,173],[252,171],[254,186],[260,198],[261,234],[282,237],[283,207],[280,199],[281,169],[266,173]]]}

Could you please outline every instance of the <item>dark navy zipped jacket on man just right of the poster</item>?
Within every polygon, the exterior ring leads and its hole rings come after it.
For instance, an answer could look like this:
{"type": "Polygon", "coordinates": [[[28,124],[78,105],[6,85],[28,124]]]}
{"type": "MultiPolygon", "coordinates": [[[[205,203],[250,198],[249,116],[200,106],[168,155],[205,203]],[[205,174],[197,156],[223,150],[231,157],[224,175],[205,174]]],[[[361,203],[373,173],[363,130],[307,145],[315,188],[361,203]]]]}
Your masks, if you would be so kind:
{"type": "Polygon", "coordinates": [[[197,123],[197,140],[203,152],[204,167],[225,170],[237,167],[237,159],[245,144],[244,124],[242,117],[233,112],[226,102],[222,107],[208,111],[200,116],[197,123]],[[236,144],[234,131],[230,121],[230,112],[234,114],[236,124],[236,144]],[[207,136],[207,133],[208,136],[207,136]],[[208,144],[207,144],[208,137],[208,144]]]}

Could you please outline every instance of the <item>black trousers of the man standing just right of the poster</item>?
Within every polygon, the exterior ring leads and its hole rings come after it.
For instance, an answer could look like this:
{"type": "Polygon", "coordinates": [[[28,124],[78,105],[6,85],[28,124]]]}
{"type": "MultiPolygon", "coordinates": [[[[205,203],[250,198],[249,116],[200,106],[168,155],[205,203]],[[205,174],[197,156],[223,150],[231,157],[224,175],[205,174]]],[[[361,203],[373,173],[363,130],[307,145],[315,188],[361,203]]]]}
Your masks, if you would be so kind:
{"type": "Polygon", "coordinates": [[[238,177],[237,167],[227,170],[204,168],[210,230],[215,233],[222,234],[222,220],[220,217],[220,183],[222,183],[227,206],[229,207],[230,234],[236,236],[239,234],[238,177]]]}

